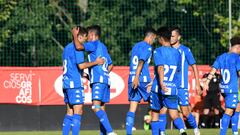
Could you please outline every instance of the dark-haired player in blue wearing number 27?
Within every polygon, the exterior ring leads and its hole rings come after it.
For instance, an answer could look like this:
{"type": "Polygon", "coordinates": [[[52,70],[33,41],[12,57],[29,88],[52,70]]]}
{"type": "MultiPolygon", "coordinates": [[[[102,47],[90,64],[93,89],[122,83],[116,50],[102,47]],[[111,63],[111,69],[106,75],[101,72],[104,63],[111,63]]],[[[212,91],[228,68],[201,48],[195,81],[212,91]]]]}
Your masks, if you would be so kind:
{"type": "MultiPolygon", "coordinates": [[[[159,111],[169,110],[170,117],[181,135],[186,135],[183,120],[178,113],[179,73],[181,71],[181,56],[177,49],[171,47],[171,31],[167,27],[157,30],[158,41],[162,47],[154,50],[155,78],[150,95],[152,109],[152,134],[165,135],[165,123],[159,120],[159,111]]],[[[166,115],[166,111],[160,111],[166,115]]]]}

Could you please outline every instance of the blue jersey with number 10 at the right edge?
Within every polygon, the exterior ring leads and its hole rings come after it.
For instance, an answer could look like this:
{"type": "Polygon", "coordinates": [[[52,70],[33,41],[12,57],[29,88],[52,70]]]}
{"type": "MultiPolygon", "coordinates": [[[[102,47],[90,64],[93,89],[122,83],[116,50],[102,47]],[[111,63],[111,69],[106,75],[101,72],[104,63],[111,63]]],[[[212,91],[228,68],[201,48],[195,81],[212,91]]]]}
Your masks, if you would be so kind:
{"type": "Polygon", "coordinates": [[[238,71],[240,71],[240,57],[236,53],[223,53],[218,56],[213,64],[215,69],[220,70],[221,92],[238,93],[238,71]]]}

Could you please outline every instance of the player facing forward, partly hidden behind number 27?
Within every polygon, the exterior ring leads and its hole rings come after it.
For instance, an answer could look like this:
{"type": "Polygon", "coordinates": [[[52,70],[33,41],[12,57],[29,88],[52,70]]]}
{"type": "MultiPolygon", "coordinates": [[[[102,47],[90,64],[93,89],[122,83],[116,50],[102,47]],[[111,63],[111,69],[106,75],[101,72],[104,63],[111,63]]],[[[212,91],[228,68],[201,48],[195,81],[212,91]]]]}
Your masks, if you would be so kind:
{"type": "Polygon", "coordinates": [[[190,65],[193,69],[195,82],[196,82],[196,91],[199,94],[201,92],[198,69],[196,66],[196,61],[193,57],[191,50],[185,45],[180,43],[181,39],[181,30],[178,27],[172,28],[172,37],[171,45],[176,48],[181,54],[181,82],[178,90],[179,96],[179,105],[182,110],[183,117],[185,117],[189,125],[194,129],[195,135],[200,135],[198,125],[194,116],[192,115],[189,107],[189,93],[188,93],[188,66],[190,65]]]}

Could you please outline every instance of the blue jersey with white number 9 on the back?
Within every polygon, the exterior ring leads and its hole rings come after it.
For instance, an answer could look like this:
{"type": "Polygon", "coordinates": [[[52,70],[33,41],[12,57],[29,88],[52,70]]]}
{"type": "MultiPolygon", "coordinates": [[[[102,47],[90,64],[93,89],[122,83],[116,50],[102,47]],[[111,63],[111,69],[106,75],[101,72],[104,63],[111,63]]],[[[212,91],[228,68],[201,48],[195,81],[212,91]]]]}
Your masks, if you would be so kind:
{"type": "Polygon", "coordinates": [[[136,75],[136,69],[138,66],[138,61],[143,60],[144,65],[139,76],[139,82],[151,82],[149,63],[152,57],[152,46],[145,41],[138,42],[132,48],[131,58],[130,58],[130,74],[128,78],[128,83],[133,82],[136,75]]]}

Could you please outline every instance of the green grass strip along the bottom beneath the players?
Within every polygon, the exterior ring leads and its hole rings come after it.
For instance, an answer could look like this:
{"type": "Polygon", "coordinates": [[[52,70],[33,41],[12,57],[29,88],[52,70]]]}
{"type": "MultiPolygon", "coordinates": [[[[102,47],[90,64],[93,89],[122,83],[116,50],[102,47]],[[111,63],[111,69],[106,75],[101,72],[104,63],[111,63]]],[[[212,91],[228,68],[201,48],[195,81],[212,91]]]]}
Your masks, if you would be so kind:
{"type": "MultiPolygon", "coordinates": [[[[219,129],[200,129],[201,135],[218,135],[219,129]]],[[[118,135],[125,135],[125,130],[116,130],[115,132],[118,135]]],[[[188,135],[194,135],[193,130],[187,130],[188,135]]],[[[0,135],[61,135],[61,131],[6,131],[0,132],[0,135]]],[[[71,135],[71,134],[70,134],[71,135]]],[[[99,131],[97,130],[82,130],[80,135],[99,135],[99,131]]],[[[133,131],[133,135],[151,135],[151,131],[144,131],[144,130],[136,130],[133,131]]],[[[167,135],[178,135],[177,130],[167,130],[167,135]]],[[[228,129],[227,135],[231,135],[231,129],[228,129]]]]}

